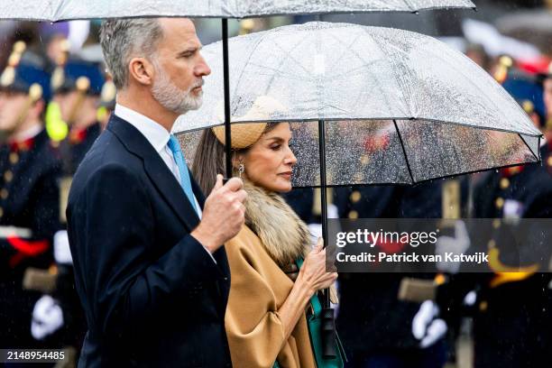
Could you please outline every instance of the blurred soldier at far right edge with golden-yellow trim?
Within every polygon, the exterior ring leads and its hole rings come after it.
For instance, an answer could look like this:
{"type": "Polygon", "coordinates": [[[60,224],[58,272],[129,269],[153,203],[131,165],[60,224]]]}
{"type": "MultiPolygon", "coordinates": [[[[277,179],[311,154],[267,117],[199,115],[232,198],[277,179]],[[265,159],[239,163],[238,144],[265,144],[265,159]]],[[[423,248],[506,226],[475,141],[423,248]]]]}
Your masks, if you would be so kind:
{"type": "MultiPolygon", "coordinates": [[[[538,87],[529,79],[526,83],[538,87]]],[[[506,82],[505,86],[508,86],[506,82]]],[[[511,88],[510,92],[529,115],[538,117],[533,106],[541,101],[532,98],[542,94],[524,94],[520,92],[523,90],[531,89],[527,86],[511,88]]],[[[539,120],[535,119],[535,122],[538,124],[539,120]]],[[[504,244],[501,228],[511,220],[552,216],[552,177],[546,166],[546,150],[547,144],[541,147],[545,166],[529,164],[502,169],[498,173],[490,171],[475,189],[475,217],[494,218],[494,230],[485,240],[488,251],[501,254],[498,261],[490,262],[495,273],[480,275],[476,287],[475,367],[534,367],[549,365],[550,362],[550,276],[538,272],[534,265],[519,264],[519,261],[509,264],[512,260],[501,247],[504,244]],[[501,271],[512,266],[516,272],[501,271]]],[[[535,233],[540,230],[536,229],[535,233]]]]}

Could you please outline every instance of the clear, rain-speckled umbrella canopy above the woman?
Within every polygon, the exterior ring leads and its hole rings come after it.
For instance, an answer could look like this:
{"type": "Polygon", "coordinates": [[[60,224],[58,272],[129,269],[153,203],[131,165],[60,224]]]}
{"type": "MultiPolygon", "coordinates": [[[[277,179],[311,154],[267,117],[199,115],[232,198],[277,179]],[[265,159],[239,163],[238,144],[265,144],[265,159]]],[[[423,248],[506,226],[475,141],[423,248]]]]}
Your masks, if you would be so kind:
{"type": "MultiPolygon", "coordinates": [[[[329,186],[411,184],[538,161],[541,134],[515,100],[431,37],[306,23],[235,37],[229,51],[232,124],[293,122],[296,187],[319,183],[319,120],[329,186]],[[278,107],[268,118],[251,114],[265,97],[278,107]]],[[[213,70],[204,104],[181,116],[175,133],[224,123],[221,52],[219,42],[203,49],[213,70]]],[[[186,149],[197,136],[184,138],[186,149]]]]}

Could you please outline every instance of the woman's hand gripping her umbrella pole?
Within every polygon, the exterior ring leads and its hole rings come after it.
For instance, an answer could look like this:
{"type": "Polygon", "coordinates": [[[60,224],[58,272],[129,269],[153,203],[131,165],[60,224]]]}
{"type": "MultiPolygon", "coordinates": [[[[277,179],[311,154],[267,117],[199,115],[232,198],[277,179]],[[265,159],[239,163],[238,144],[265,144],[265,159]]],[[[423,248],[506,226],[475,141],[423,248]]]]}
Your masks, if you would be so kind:
{"type": "Polygon", "coordinates": [[[322,238],[318,238],[317,246],[308,253],[299,270],[298,281],[304,283],[312,295],[317,290],[329,288],[336,280],[337,272],[326,271],[326,249],[322,238]]]}

